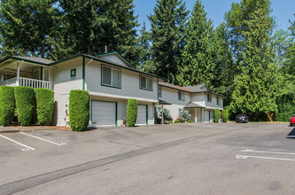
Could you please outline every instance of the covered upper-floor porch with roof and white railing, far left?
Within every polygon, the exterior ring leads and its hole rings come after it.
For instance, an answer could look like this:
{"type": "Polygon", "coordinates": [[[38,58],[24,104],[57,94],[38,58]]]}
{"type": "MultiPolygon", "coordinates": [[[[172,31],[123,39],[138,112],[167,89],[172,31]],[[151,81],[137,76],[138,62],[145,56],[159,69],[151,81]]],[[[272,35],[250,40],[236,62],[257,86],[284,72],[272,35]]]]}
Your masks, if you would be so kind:
{"type": "Polygon", "coordinates": [[[52,61],[35,57],[9,57],[0,61],[0,85],[51,89],[52,61]]]}

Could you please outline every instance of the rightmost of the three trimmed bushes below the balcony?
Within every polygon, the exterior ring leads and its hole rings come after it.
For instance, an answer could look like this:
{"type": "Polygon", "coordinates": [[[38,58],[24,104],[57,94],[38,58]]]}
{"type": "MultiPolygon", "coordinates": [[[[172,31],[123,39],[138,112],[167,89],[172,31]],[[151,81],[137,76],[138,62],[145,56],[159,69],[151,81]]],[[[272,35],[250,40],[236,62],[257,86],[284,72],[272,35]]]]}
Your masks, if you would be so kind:
{"type": "Polygon", "coordinates": [[[35,89],[37,119],[39,125],[50,125],[54,107],[54,92],[48,89],[35,89]]]}

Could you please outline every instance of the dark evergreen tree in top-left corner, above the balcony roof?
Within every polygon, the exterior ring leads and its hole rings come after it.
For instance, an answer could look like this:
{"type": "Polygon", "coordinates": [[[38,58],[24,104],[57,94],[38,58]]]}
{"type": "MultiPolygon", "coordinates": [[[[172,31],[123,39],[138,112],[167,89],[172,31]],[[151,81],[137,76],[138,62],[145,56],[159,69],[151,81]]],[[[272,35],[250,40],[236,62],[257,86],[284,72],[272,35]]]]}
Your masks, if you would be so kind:
{"type": "Polygon", "coordinates": [[[53,58],[50,38],[59,30],[56,0],[0,1],[2,56],[26,55],[53,58]]]}

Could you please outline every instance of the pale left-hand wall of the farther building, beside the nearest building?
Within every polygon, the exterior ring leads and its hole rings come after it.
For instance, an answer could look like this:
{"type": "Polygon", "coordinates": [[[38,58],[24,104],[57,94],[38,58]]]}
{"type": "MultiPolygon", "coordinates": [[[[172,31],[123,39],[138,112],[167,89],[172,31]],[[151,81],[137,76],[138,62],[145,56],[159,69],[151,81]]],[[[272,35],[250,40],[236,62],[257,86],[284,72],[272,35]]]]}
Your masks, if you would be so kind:
{"type": "Polygon", "coordinates": [[[183,109],[183,107],[190,103],[190,93],[184,92],[184,101],[178,100],[178,90],[166,88],[162,86],[162,97],[159,98],[164,100],[172,105],[164,105],[164,108],[170,110],[171,117],[175,121],[179,114],[178,110],[183,109]]]}

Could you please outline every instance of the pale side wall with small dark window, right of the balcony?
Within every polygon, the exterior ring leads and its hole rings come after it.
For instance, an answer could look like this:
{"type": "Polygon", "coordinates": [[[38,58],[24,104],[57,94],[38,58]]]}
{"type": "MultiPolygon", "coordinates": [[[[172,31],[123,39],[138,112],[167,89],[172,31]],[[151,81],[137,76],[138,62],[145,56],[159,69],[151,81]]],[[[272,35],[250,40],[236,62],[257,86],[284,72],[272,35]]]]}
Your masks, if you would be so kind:
{"type": "Polygon", "coordinates": [[[71,90],[82,90],[82,58],[74,58],[53,66],[52,85],[55,106],[52,124],[66,126],[68,98],[71,90]],[[71,69],[76,68],[76,79],[71,81],[71,69]]]}

